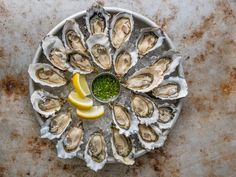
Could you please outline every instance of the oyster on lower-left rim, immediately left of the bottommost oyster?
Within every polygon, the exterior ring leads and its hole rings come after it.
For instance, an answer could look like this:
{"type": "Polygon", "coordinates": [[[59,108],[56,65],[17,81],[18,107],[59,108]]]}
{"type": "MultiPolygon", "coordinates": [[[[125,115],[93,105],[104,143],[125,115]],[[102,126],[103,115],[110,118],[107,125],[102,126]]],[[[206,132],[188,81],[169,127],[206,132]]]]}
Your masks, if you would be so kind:
{"type": "Polygon", "coordinates": [[[57,155],[60,158],[73,158],[80,150],[83,144],[84,129],[82,122],[79,121],[75,126],[66,131],[61,139],[57,142],[57,155]]]}

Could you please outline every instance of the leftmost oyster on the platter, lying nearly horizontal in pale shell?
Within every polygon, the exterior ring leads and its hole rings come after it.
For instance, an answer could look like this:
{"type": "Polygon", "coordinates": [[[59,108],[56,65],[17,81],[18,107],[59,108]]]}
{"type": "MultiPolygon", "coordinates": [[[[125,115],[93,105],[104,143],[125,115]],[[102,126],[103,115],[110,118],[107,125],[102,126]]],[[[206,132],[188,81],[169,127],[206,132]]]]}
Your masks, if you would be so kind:
{"type": "Polygon", "coordinates": [[[28,73],[34,82],[44,86],[60,87],[67,83],[63,73],[49,64],[30,64],[28,73]]]}

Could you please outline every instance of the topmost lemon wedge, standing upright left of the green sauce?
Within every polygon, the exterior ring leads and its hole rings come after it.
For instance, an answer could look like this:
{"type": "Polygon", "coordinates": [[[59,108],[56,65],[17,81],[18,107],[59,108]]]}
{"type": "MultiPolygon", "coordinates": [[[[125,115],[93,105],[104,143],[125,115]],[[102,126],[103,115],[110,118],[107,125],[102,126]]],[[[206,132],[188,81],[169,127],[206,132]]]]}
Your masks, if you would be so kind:
{"type": "Polygon", "coordinates": [[[84,75],[75,73],[71,80],[75,91],[79,94],[80,97],[84,98],[91,94],[84,75]]]}

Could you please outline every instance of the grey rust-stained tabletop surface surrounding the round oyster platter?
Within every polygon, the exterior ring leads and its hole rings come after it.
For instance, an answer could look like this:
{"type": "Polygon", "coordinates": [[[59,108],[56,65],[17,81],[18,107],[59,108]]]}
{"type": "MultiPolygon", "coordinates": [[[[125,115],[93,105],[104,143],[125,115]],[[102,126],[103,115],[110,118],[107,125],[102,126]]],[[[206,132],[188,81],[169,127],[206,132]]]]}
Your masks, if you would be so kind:
{"type": "Polygon", "coordinates": [[[94,1],[0,0],[0,177],[236,176],[236,1],[103,1],[141,13],[169,34],[185,61],[189,96],[163,148],[98,173],[60,160],[39,138],[27,69],[39,41],[94,1]]]}

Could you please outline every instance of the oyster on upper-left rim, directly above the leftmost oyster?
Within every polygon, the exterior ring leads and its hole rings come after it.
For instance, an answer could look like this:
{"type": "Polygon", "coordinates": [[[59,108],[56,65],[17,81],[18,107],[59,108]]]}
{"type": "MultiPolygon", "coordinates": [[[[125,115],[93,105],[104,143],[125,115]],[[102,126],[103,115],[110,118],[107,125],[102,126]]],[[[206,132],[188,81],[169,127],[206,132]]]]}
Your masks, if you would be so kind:
{"type": "Polygon", "coordinates": [[[58,37],[52,35],[46,36],[42,40],[42,48],[46,58],[55,67],[63,71],[68,69],[66,50],[58,37]]]}

